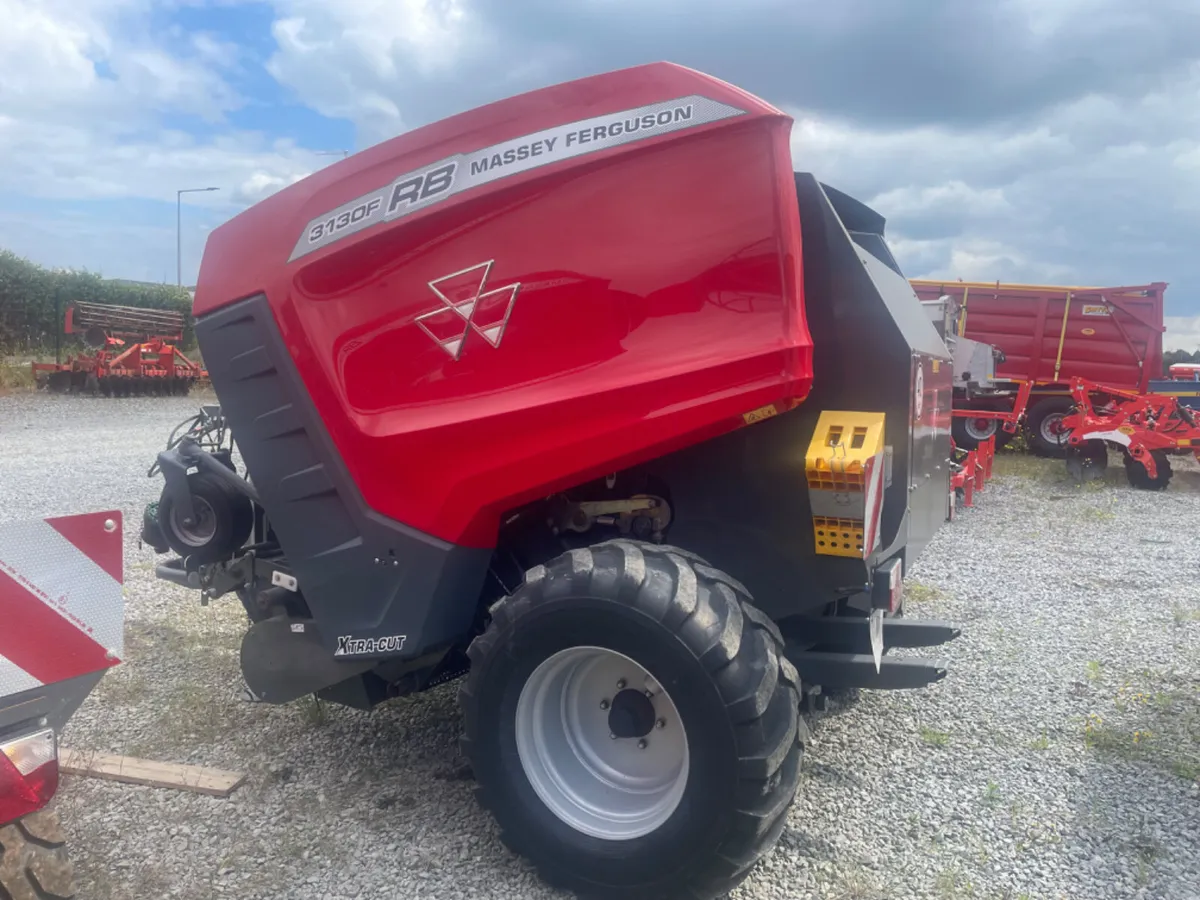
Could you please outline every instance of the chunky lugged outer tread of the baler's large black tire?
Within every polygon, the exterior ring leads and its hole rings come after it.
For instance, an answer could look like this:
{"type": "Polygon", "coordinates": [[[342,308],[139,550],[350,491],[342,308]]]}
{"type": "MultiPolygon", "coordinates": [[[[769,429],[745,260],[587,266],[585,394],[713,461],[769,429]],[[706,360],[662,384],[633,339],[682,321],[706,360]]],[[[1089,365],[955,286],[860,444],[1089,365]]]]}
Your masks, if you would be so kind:
{"type": "MultiPolygon", "coordinates": [[[[505,845],[529,859],[548,883],[581,896],[704,900],[744,881],[782,833],[809,734],[799,712],[799,676],[784,656],[779,628],[752,605],[740,583],[694,553],[613,540],[530,569],[524,583],[491,612],[491,624],[467,652],[472,671],[458,695],[464,718],[461,749],[476,776],[476,797],[497,818],[505,845]],[[485,694],[504,690],[490,677],[490,664],[509,656],[509,642],[523,630],[526,616],[540,607],[563,608],[576,596],[632,607],[661,626],[664,636],[680,641],[716,689],[725,725],[733,732],[737,781],[722,810],[725,832],[706,858],[689,857],[678,870],[655,872],[641,883],[589,881],[572,860],[547,846],[508,796],[515,788],[504,782],[505,770],[490,748],[499,746],[499,730],[488,724],[499,703],[486,703],[485,694]]],[[[520,768],[516,775],[524,778],[520,768]]],[[[689,784],[686,793],[709,790],[689,784]]]]}

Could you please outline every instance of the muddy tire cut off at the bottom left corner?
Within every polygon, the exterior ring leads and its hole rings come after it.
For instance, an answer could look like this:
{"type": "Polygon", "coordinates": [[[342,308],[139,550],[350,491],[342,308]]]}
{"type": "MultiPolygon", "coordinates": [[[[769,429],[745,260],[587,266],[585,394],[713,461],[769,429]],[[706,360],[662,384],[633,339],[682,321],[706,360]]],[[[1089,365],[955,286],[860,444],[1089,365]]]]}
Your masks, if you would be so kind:
{"type": "Polygon", "coordinates": [[[72,900],[74,866],[53,809],[0,827],[0,896],[6,900],[72,900]]]}

